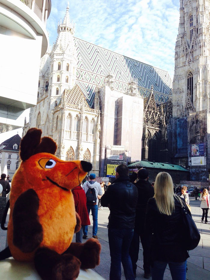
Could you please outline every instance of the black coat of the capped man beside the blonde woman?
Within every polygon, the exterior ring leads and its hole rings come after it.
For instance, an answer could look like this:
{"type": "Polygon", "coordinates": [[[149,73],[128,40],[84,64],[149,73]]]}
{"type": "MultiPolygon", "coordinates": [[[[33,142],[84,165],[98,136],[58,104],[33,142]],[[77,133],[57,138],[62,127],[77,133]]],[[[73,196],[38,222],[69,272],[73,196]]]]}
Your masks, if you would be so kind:
{"type": "Polygon", "coordinates": [[[134,183],[138,190],[138,201],[136,207],[136,218],[135,218],[135,231],[143,232],[146,207],[148,200],[154,196],[154,188],[149,181],[139,179],[137,183],[134,183]]]}

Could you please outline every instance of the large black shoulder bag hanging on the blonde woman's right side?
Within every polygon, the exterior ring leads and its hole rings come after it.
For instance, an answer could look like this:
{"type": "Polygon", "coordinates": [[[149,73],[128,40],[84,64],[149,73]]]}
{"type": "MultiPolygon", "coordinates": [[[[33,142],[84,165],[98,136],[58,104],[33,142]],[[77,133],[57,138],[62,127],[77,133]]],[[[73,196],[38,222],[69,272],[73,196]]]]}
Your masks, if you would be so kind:
{"type": "Polygon", "coordinates": [[[179,199],[179,202],[182,206],[182,216],[183,216],[183,228],[182,228],[182,236],[185,236],[184,245],[186,250],[193,250],[197,247],[200,241],[200,233],[196,227],[195,222],[192,217],[188,214],[187,209],[185,209],[186,205],[182,202],[179,196],[176,196],[179,199]]]}

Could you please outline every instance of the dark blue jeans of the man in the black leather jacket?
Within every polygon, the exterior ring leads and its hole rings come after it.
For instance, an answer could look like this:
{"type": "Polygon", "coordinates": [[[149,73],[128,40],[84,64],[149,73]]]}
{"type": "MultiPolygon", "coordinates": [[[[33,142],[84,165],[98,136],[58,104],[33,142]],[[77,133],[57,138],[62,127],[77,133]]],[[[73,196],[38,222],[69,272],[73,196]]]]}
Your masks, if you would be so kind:
{"type": "Polygon", "coordinates": [[[121,262],[126,280],[134,280],[134,272],[129,255],[131,240],[134,235],[132,228],[108,228],[111,266],[110,280],[121,279],[121,262]]]}

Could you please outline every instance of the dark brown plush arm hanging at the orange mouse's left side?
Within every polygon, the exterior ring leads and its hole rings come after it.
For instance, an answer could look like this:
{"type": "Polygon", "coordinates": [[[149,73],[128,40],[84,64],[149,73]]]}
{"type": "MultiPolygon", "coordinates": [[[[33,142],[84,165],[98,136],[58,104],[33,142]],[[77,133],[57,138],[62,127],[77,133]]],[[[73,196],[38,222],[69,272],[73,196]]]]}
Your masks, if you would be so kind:
{"type": "Polygon", "coordinates": [[[13,209],[13,244],[22,252],[30,253],[43,239],[43,229],[37,215],[39,198],[32,189],[22,193],[13,209]]]}

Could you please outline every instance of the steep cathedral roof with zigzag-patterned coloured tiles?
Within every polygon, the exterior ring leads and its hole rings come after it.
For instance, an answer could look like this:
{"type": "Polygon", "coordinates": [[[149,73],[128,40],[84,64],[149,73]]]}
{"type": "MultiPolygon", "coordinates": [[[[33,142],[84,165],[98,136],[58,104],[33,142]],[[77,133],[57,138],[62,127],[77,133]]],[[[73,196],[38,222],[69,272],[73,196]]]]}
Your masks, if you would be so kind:
{"type": "Polygon", "coordinates": [[[155,68],[143,62],[114,53],[94,44],[74,38],[77,53],[77,84],[92,105],[95,87],[104,85],[107,74],[113,73],[114,87],[126,92],[132,78],[138,79],[138,92],[149,97],[153,85],[155,101],[166,102],[170,96],[172,80],[167,71],[155,68]]]}

